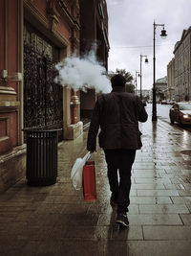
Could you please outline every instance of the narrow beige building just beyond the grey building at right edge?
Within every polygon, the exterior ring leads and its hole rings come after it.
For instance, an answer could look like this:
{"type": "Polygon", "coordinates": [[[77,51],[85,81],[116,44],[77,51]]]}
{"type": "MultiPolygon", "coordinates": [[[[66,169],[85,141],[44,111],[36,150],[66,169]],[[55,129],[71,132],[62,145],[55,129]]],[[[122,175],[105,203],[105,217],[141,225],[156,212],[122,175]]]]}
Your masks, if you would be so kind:
{"type": "Polygon", "coordinates": [[[175,100],[175,58],[167,65],[167,100],[175,100]]]}

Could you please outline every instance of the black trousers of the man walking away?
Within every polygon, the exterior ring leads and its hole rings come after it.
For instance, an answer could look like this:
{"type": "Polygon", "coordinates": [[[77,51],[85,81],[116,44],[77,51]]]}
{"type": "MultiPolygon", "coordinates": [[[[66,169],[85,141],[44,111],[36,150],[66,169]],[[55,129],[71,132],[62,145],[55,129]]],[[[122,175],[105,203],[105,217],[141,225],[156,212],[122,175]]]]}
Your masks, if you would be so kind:
{"type": "Polygon", "coordinates": [[[112,197],[117,200],[117,213],[128,212],[131,170],[135,157],[136,150],[105,150],[110,190],[112,197]]]}

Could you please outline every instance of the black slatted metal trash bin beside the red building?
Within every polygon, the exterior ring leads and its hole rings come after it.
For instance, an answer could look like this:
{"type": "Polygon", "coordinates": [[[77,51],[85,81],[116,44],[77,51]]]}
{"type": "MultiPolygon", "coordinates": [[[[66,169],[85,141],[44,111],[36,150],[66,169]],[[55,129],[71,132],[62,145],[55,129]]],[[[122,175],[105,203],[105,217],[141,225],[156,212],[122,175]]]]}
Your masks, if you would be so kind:
{"type": "Polygon", "coordinates": [[[27,139],[27,183],[32,186],[54,184],[57,177],[57,131],[61,128],[23,130],[27,139]]]}

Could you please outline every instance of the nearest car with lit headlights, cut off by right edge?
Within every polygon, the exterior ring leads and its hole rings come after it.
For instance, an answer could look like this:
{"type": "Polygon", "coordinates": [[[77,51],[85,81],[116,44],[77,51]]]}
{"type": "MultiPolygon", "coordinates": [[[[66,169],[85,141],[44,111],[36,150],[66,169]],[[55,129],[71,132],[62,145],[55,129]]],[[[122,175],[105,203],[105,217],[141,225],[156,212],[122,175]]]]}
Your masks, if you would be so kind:
{"type": "Polygon", "coordinates": [[[178,122],[180,125],[191,126],[191,102],[174,104],[169,110],[171,124],[178,122]]]}

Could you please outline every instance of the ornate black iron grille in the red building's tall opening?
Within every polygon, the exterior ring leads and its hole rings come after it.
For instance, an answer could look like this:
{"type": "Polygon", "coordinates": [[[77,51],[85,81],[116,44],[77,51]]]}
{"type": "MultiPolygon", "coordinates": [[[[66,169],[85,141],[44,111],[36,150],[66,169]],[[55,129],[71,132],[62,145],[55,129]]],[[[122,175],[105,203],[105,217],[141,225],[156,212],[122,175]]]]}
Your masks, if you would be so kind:
{"type": "Polygon", "coordinates": [[[54,82],[56,61],[35,43],[24,42],[24,127],[62,128],[62,86],[54,82]]]}

